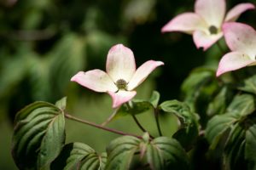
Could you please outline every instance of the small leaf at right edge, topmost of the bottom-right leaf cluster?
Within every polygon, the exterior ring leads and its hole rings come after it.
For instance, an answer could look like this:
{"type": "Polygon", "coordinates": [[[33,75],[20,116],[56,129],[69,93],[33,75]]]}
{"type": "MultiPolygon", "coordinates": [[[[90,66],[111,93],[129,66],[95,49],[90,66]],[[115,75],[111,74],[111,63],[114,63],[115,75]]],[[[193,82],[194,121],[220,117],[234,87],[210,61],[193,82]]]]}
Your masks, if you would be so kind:
{"type": "Polygon", "coordinates": [[[228,113],[232,113],[236,118],[241,119],[244,116],[250,115],[255,110],[255,102],[251,94],[238,94],[232,100],[227,108],[228,113]]]}

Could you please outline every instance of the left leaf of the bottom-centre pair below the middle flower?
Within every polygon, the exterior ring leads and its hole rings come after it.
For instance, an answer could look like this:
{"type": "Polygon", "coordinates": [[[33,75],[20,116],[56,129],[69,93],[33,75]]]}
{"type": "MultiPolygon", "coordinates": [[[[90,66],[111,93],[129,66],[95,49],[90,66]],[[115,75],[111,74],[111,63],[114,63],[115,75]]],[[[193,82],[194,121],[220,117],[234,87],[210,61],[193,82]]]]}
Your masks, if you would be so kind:
{"type": "Polygon", "coordinates": [[[122,136],[114,139],[107,147],[108,161],[106,170],[125,170],[131,167],[132,157],[138,150],[140,139],[122,136]]]}

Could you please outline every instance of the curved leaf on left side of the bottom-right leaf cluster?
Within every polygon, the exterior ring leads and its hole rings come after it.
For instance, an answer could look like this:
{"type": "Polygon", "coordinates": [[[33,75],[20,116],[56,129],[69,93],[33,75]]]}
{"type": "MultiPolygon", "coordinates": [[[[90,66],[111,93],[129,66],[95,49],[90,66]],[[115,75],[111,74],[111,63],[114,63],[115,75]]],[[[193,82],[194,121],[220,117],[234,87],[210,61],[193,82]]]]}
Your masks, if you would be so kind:
{"type": "Polygon", "coordinates": [[[207,123],[206,138],[210,143],[210,149],[214,150],[218,144],[219,139],[222,137],[233,123],[236,118],[228,114],[213,116],[207,123]]]}

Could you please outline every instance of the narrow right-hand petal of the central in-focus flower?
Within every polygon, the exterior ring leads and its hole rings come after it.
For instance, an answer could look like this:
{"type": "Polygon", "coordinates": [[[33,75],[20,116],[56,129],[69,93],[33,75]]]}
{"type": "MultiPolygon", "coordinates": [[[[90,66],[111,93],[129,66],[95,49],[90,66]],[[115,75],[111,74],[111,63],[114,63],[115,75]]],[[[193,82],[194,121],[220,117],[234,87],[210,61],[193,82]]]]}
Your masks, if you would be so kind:
{"type": "Polygon", "coordinates": [[[142,83],[148,75],[154,71],[154,69],[160,65],[164,65],[161,61],[148,60],[143,65],[141,65],[134,76],[131,78],[131,81],[128,83],[128,90],[136,88],[140,83],[142,83]]]}

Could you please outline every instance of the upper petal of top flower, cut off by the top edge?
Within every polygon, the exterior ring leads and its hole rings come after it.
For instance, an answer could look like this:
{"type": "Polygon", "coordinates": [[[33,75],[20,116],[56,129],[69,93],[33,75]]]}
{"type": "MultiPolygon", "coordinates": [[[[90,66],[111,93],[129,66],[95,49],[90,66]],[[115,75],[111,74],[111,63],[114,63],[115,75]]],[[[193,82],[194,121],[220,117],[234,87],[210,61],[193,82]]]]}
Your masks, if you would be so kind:
{"type": "Polygon", "coordinates": [[[196,0],[195,13],[199,14],[209,26],[219,28],[226,11],[225,0],[196,0]]]}

